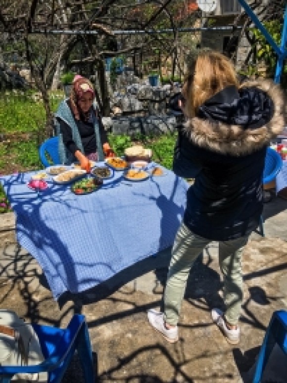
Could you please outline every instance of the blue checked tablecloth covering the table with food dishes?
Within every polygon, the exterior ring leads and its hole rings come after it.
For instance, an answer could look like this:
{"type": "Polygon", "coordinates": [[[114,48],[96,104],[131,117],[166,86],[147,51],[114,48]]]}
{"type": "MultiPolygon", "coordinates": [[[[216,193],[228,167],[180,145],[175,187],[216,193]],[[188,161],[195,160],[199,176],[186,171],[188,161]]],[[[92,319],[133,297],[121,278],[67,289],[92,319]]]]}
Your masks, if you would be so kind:
{"type": "Polygon", "coordinates": [[[111,179],[91,194],[48,180],[35,192],[35,173],[1,176],[16,215],[17,241],[37,259],[55,299],[79,293],[173,244],[183,217],[188,183],[165,170],[141,182],[111,179]]]}

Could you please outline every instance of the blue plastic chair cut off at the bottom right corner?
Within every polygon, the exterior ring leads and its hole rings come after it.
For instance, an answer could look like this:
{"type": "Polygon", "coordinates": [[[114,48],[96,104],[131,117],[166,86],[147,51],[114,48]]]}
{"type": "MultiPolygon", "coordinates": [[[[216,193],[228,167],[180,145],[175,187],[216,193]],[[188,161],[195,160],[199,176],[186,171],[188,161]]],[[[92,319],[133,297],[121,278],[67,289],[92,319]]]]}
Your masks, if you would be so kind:
{"type": "Polygon", "coordinates": [[[268,358],[276,343],[287,356],[287,311],[284,310],[275,311],[272,315],[260,348],[253,383],[261,382],[268,358]]]}

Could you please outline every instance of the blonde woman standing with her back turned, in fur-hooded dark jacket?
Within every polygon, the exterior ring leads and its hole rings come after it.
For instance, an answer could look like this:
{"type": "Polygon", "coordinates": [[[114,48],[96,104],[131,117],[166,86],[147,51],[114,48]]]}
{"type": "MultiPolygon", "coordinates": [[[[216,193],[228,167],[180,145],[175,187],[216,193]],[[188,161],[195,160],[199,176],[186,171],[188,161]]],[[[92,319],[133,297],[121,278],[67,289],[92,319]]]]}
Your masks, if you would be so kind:
{"type": "Polygon", "coordinates": [[[186,123],[179,130],[173,170],[195,181],[172,249],[164,312],[149,310],[148,320],[166,340],[178,340],[192,264],[210,241],[218,241],[224,305],[213,308],[211,318],[237,344],[242,252],[262,214],[266,149],[285,126],[284,97],[271,80],[239,85],[227,57],[201,51],[191,62],[180,105],[186,123]]]}

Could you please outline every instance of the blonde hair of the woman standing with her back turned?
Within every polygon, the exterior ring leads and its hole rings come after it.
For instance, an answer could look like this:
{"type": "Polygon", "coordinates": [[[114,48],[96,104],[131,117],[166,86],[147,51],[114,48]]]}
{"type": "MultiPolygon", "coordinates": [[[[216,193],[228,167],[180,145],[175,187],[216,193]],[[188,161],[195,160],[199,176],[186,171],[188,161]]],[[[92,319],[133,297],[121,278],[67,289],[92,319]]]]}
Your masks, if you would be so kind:
{"type": "Polygon", "coordinates": [[[188,117],[194,117],[200,105],[224,88],[239,86],[233,63],[219,52],[200,52],[189,73],[184,90],[188,117]]]}

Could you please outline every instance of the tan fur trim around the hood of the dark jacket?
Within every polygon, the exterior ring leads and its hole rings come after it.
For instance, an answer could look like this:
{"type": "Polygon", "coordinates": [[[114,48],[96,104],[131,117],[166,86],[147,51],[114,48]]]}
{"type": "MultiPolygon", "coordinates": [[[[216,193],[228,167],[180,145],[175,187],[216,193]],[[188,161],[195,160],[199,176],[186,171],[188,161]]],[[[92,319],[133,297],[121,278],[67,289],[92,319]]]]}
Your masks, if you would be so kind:
{"type": "MultiPolygon", "coordinates": [[[[263,125],[254,128],[216,118],[194,117],[185,123],[185,132],[196,145],[231,155],[244,155],[262,148],[278,136],[285,127],[285,102],[280,87],[271,80],[246,81],[239,88],[239,94],[250,92],[265,94],[273,101],[272,115],[263,125]]],[[[248,102],[253,102],[252,97],[248,102]]],[[[255,101],[254,101],[255,102],[255,101]]],[[[258,108],[258,105],[256,105],[258,108]]],[[[264,112],[264,110],[262,110],[264,112]]],[[[229,120],[229,119],[228,119],[229,120]]]]}

